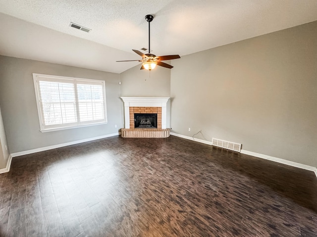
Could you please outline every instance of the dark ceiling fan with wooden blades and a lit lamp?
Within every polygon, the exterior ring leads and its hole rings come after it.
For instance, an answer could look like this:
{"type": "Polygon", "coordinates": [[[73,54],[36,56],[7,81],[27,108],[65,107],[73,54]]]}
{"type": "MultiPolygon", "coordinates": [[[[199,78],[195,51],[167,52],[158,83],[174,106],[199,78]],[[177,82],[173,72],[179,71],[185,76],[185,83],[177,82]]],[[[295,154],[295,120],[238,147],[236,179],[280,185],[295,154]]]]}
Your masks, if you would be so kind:
{"type": "Polygon", "coordinates": [[[145,19],[147,20],[147,22],[149,22],[149,53],[144,54],[144,53],[140,52],[139,50],[132,49],[134,52],[139,54],[142,57],[142,59],[140,59],[140,60],[124,60],[124,61],[116,61],[116,62],[130,62],[130,61],[143,62],[140,70],[146,69],[146,70],[151,71],[157,65],[164,67],[164,68],[173,68],[173,66],[171,66],[167,63],[163,63],[161,61],[177,59],[177,58],[180,58],[179,55],[156,56],[156,55],[151,53],[151,50],[150,50],[150,22],[153,20],[153,18],[154,18],[153,15],[146,15],[145,16],[145,19]]]}

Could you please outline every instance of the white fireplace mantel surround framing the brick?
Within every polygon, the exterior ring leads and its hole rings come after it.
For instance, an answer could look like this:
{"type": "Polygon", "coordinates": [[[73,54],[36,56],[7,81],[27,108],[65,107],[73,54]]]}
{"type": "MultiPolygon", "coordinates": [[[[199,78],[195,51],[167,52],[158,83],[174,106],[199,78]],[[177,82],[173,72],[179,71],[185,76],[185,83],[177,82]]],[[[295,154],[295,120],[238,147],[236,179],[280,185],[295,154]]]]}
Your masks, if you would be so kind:
{"type": "Polygon", "coordinates": [[[124,128],[130,128],[130,107],[161,107],[162,129],[166,128],[166,104],[169,97],[120,97],[124,102],[124,128]]]}

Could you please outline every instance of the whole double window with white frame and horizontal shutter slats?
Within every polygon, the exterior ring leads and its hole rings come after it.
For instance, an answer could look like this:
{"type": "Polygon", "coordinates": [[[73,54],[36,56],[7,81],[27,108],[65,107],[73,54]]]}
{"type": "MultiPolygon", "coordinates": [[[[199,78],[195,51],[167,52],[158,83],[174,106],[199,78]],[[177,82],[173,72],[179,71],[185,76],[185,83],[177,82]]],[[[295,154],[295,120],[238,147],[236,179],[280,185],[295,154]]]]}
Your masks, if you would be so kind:
{"type": "Polygon", "coordinates": [[[42,132],[102,124],[105,81],[33,73],[42,132]]]}

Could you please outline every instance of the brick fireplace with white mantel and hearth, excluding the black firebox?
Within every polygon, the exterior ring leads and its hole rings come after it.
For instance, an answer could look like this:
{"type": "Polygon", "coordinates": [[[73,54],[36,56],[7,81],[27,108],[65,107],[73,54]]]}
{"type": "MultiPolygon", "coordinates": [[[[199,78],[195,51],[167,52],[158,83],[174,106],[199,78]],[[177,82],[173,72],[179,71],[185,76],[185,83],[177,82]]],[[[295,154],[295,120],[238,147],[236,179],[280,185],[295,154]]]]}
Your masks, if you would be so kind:
{"type": "Polygon", "coordinates": [[[121,97],[124,102],[123,137],[168,137],[166,103],[169,97],[121,97]],[[157,128],[135,128],[134,114],[157,114],[157,128]]]}

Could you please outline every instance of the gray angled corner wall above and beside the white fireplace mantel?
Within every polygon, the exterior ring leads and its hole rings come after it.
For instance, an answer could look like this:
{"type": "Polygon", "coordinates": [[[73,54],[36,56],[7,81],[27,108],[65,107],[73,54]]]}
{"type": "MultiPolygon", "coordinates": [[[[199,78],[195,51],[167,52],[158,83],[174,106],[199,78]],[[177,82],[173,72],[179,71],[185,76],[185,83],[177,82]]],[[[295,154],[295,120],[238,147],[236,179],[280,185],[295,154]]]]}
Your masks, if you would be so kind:
{"type": "MultiPolygon", "coordinates": [[[[138,65],[120,74],[121,96],[170,97],[170,69],[157,66],[149,72],[140,68],[138,65]]],[[[166,127],[170,127],[170,100],[166,105],[166,127]]]]}

